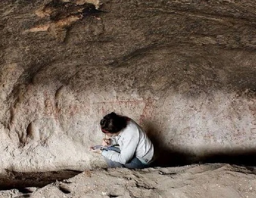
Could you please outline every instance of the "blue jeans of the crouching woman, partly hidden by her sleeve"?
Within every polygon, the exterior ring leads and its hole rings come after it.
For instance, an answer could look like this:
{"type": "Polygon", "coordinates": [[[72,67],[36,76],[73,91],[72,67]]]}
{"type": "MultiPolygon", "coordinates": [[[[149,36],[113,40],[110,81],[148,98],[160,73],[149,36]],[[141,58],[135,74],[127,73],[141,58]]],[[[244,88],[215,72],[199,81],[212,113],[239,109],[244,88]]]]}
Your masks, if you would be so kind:
{"type": "MultiPolygon", "coordinates": [[[[108,148],[103,149],[105,151],[115,151],[117,153],[120,153],[120,149],[118,147],[115,146],[110,146],[108,148]]],[[[134,168],[148,168],[150,167],[149,164],[143,164],[138,158],[134,157],[132,158],[132,160],[127,163],[127,164],[121,164],[119,162],[114,162],[108,158],[105,158],[103,156],[104,160],[106,161],[106,163],[108,164],[109,167],[126,167],[126,168],[130,168],[130,169],[134,169],[134,168]]]]}

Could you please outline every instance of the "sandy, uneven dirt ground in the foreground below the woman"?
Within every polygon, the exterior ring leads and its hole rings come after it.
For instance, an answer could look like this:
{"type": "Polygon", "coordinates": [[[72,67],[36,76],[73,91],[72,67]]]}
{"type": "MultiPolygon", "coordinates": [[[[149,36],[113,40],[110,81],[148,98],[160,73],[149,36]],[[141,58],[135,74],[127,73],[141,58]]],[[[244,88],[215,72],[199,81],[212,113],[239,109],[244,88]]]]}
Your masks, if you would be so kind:
{"type": "Polygon", "coordinates": [[[45,187],[3,190],[1,197],[254,198],[256,169],[229,164],[96,169],[45,187]]]}

